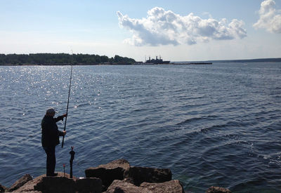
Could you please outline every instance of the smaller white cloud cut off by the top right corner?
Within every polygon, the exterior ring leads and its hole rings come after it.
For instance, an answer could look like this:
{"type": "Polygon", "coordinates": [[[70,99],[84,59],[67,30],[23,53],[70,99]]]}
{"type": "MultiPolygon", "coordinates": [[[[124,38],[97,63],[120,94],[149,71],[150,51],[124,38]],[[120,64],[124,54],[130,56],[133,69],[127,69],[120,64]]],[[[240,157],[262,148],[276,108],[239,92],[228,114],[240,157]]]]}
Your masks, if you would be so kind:
{"type": "Polygon", "coordinates": [[[281,33],[281,15],[277,14],[275,1],[266,0],[261,3],[259,20],[253,25],[256,29],[264,28],[271,33],[281,33]]]}

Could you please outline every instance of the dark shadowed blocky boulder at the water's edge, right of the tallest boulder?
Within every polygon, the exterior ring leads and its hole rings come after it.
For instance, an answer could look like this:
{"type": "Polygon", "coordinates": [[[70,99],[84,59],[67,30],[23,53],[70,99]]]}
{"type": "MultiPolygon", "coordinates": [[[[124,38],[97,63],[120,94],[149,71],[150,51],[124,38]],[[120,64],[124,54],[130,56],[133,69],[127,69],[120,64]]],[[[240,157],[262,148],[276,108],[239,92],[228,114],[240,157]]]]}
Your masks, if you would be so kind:
{"type": "Polygon", "coordinates": [[[124,172],[124,178],[129,178],[134,185],[139,186],[143,182],[167,182],[171,180],[170,169],[130,167],[124,172]]]}

